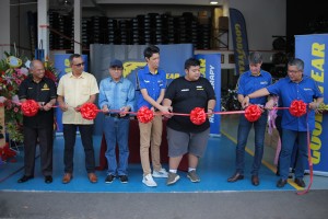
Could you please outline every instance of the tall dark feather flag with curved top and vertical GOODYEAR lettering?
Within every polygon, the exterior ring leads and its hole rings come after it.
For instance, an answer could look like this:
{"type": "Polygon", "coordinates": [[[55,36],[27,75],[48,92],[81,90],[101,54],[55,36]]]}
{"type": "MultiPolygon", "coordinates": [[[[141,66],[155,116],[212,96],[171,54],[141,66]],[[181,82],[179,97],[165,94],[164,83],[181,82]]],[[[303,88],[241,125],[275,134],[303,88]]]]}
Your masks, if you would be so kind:
{"type": "Polygon", "coordinates": [[[246,23],[242,12],[236,9],[230,9],[230,22],[234,45],[236,74],[241,74],[249,69],[246,23]]]}

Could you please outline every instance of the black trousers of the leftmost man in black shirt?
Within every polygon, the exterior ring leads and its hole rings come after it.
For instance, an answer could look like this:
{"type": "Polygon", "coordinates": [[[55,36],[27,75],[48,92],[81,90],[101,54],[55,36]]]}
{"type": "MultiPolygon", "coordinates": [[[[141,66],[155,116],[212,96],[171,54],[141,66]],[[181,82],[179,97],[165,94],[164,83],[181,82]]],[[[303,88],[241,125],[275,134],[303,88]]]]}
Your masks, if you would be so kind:
{"type": "Polygon", "coordinates": [[[31,128],[24,126],[24,168],[25,175],[34,176],[35,150],[39,140],[40,166],[43,175],[52,174],[52,126],[31,128]]]}

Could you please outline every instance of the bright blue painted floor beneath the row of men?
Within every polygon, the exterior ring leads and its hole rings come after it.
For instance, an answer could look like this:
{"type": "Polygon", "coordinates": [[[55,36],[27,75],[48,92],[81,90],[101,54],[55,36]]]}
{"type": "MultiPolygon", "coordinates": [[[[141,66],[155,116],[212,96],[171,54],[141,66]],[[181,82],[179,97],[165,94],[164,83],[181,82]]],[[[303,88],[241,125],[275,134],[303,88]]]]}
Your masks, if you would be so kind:
{"type": "MultiPolygon", "coordinates": [[[[94,137],[96,160],[101,137],[94,137]]],[[[21,149],[22,150],[22,149],[21,149]]],[[[105,184],[106,171],[97,171],[98,183],[91,184],[84,169],[84,152],[80,138],[77,140],[74,153],[74,177],[71,183],[62,184],[63,173],[63,139],[56,137],[54,148],[54,182],[45,184],[39,170],[39,159],[36,159],[35,178],[19,184],[17,178],[23,175],[23,152],[17,154],[15,163],[2,163],[0,165],[0,191],[35,191],[35,192],[77,192],[77,193],[195,193],[195,192],[226,192],[226,191],[277,191],[276,182],[279,180],[272,171],[262,165],[260,170],[260,185],[250,183],[250,168],[253,157],[245,155],[245,180],[236,183],[227,183],[226,178],[234,173],[235,143],[225,136],[211,137],[207,152],[200,159],[198,174],[200,183],[191,183],[185,172],[178,172],[180,180],[172,186],[166,186],[165,178],[155,178],[157,187],[147,187],[141,183],[142,170],[140,164],[129,165],[129,183],[121,184],[119,180],[112,184],[105,184]]],[[[167,164],[163,164],[167,168],[167,164]]],[[[291,185],[282,189],[295,191],[291,185]]],[[[281,191],[281,189],[279,189],[281,191]]]]}

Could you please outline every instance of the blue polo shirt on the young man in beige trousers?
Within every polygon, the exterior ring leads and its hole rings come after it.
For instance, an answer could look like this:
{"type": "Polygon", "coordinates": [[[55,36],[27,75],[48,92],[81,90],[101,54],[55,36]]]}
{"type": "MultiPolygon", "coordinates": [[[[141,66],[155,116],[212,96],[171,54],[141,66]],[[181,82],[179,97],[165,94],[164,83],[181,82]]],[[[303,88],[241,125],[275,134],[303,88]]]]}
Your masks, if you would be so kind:
{"type": "MultiPolygon", "coordinates": [[[[166,89],[166,72],[163,69],[157,69],[157,72],[155,74],[152,74],[149,71],[149,67],[147,65],[138,71],[137,77],[137,82],[140,91],[142,89],[145,89],[148,95],[151,96],[154,101],[159,99],[161,90],[166,89]]],[[[138,99],[138,110],[141,106],[148,106],[149,108],[152,107],[152,105],[143,99],[142,94],[140,94],[138,99]]]]}

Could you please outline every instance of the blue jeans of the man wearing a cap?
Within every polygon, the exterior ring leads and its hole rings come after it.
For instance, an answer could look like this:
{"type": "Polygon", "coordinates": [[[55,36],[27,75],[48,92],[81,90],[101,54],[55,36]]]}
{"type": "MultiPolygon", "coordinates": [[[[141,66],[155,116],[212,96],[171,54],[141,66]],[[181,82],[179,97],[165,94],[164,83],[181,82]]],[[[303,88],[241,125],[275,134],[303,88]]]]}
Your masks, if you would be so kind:
{"type": "MultiPolygon", "coordinates": [[[[104,134],[107,143],[105,157],[107,159],[108,170],[107,175],[127,175],[128,159],[129,159],[129,126],[130,118],[116,118],[105,116],[104,134]],[[116,143],[119,149],[119,163],[116,161],[116,143]]],[[[139,135],[139,134],[136,134],[139,135]]]]}

